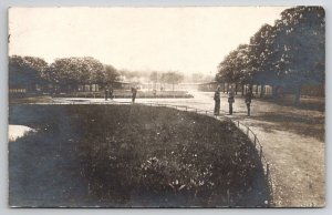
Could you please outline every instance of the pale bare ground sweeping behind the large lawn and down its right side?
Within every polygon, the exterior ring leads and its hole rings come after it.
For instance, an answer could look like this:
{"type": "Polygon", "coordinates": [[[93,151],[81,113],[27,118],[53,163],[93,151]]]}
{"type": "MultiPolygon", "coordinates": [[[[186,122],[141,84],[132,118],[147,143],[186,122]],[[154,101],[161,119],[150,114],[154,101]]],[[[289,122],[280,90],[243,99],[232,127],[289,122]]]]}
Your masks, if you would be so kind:
{"type": "MultiPolygon", "coordinates": [[[[214,110],[212,92],[190,92],[194,99],[136,99],[136,103],[159,102],[214,110]]],[[[104,99],[54,99],[55,103],[114,103],[104,99]]],[[[116,99],[131,102],[131,99],[116,99]]],[[[227,94],[221,93],[221,115],[228,113],[227,94]]],[[[253,100],[247,116],[238,95],[232,120],[250,126],[271,164],[273,203],[277,207],[320,207],[325,204],[324,112],[282,106],[253,100]]]]}

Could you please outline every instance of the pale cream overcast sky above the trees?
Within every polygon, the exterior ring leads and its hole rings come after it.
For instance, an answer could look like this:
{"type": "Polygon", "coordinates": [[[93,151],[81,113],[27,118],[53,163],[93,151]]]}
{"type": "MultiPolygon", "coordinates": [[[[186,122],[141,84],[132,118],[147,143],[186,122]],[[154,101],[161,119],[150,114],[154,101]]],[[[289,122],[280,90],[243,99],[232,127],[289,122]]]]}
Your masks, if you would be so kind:
{"type": "Polygon", "coordinates": [[[116,69],[214,74],[231,50],[284,9],[11,8],[9,54],[49,63],[93,57],[116,69]]]}

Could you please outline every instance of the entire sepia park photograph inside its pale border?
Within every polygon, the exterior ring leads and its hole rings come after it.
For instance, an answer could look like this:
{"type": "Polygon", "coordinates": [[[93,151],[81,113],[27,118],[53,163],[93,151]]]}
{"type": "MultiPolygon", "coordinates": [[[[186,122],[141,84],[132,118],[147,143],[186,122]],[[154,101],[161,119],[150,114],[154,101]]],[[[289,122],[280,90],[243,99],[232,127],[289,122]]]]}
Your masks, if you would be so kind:
{"type": "Polygon", "coordinates": [[[9,207],[325,206],[325,11],[8,9],[9,207]]]}

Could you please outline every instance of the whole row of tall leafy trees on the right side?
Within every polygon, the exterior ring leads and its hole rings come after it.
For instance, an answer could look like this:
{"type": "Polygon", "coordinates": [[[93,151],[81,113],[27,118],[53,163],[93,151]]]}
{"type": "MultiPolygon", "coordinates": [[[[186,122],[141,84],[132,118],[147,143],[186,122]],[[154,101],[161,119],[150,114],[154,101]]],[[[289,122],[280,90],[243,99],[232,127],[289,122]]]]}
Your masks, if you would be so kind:
{"type": "Polygon", "coordinates": [[[325,13],[321,7],[281,12],[274,25],[262,25],[249,44],[240,44],[218,65],[220,83],[289,89],[299,103],[303,84],[325,81],[325,13]]]}

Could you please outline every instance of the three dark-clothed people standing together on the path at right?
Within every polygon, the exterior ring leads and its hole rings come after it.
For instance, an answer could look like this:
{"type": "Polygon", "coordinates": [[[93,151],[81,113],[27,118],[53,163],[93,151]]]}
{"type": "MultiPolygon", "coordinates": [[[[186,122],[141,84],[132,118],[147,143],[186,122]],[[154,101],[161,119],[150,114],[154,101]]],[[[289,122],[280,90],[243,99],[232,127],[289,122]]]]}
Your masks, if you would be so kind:
{"type": "MultiPolygon", "coordinates": [[[[252,92],[250,89],[246,93],[245,102],[247,105],[247,115],[250,115],[250,104],[251,104],[252,92]]],[[[215,115],[220,114],[220,86],[217,88],[215,92],[215,115]]],[[[228,93],[228,104],[229,104],[229,115],[232,115],[232,104],[235,103],[235,92],[232,89],[229,90],[228,93]]]]}

